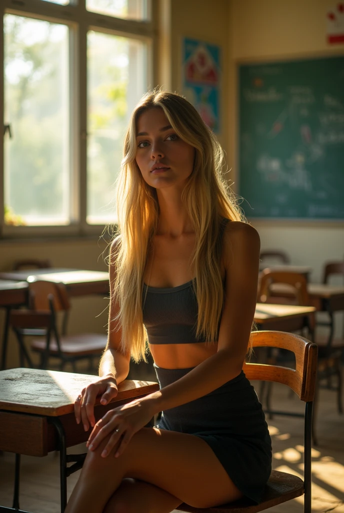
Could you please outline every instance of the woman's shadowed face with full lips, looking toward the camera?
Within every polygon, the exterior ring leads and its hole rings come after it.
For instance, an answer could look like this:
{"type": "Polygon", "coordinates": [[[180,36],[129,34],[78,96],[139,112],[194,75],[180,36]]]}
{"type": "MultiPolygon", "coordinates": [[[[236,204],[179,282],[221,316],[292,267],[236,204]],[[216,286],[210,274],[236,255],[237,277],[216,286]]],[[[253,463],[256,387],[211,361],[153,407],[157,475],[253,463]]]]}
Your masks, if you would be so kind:
{"type": "Polygon", "coordinates": [[[184,188],[195,148],[178,137],[160,107],[142,112],[136,128],[136,162],[145,182],[156,189],[184,188]]]}

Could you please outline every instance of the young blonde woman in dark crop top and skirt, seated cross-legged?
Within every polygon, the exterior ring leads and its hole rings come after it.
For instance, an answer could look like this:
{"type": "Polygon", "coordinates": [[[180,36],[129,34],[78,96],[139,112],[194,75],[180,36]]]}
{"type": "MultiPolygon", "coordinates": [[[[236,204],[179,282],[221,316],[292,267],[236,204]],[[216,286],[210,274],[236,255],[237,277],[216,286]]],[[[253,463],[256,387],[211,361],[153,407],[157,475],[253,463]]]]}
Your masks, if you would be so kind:
{"type": "Polygon", "coordinates": [[[260,240],[222,177],[222,150],[196,109],[165,91],[143,96],[124,142],[120,235],[110,259],[109,342],[99,380],[75,402],[93,428],[67,513],[169,513],[247,496],[271,471],[264,413],[242,371],[260,240]],[[160,391],[110,410],[146,334],[160,391]],[[144,427],[162,411],[158,427],[144,427]]]}

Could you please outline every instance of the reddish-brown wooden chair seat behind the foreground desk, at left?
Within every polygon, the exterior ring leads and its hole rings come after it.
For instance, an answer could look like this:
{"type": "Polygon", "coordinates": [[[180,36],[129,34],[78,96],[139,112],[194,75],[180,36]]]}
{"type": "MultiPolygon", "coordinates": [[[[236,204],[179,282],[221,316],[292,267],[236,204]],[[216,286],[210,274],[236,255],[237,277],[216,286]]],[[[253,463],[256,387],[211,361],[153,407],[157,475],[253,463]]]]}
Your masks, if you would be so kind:
{"type": "MultiPolygon", "coordinates": [[[[70,356],[76,354],[100,354],[106,346],[107,336],[99,333],[80,333],[77,335],[67,335],[60,337],[61,352],[68,353],[70,356]]],[[[31,342],[33,351],[45,351],[46,339],[36,339],[31,342]]],[[[49,351],[51,354],[58,354],[55,338],[51,338],[49,351]]]]}

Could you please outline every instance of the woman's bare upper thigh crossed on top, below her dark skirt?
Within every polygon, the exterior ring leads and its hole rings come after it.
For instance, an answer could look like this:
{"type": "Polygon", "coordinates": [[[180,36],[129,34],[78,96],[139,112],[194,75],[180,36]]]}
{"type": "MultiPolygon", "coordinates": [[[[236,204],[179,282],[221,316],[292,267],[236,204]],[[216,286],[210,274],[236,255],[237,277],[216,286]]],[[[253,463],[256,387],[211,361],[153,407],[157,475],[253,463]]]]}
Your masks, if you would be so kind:
{"type": "Polygon", "coordinates": [[[215,506],[242,497],[212,449],[199,437],[143,428],[119,458],[114,458],[116,447],[106,458],[100,456],[106,442],[89,455],[91,466],[104,472],[104,478],[120,471],[122,478],[153,484],[194,507],[215,506]]]}

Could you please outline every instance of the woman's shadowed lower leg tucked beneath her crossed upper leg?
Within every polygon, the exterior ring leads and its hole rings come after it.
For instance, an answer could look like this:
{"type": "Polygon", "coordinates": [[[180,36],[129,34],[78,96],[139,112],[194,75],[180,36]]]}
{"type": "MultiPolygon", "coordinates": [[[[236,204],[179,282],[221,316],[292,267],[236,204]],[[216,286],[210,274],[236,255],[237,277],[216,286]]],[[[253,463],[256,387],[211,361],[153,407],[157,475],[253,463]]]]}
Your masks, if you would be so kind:
{"type": "Polygon", "coordinates": [[[168,491],[137,479],[123,479],[103,513],[170,513],[180,499],[168,491]]]}

